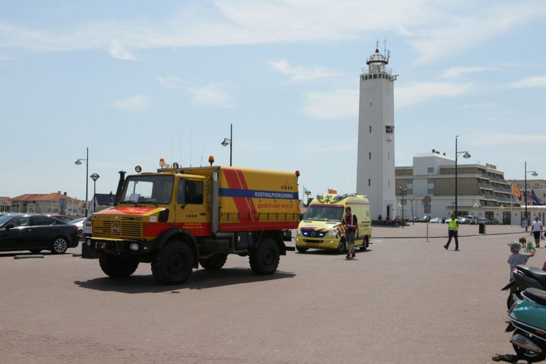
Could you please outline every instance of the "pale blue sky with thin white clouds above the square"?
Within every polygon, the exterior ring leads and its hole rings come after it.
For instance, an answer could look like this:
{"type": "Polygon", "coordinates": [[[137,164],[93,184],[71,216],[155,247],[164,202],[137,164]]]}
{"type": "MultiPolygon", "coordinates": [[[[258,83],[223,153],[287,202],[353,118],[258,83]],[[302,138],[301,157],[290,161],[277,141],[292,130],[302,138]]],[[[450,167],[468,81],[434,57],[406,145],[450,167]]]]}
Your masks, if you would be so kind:
{"type": "Polygon", "coordinates": [[[159,158],[229,165],[224,138],[234,166],[355,192],[377,44],[398,75],[395,166],[454,158],[458,136],[460,164],[546,179],[544,34],[543,0],[0,0],[0,196],[85,199],[88,181],[91,199],[159,158]]]}

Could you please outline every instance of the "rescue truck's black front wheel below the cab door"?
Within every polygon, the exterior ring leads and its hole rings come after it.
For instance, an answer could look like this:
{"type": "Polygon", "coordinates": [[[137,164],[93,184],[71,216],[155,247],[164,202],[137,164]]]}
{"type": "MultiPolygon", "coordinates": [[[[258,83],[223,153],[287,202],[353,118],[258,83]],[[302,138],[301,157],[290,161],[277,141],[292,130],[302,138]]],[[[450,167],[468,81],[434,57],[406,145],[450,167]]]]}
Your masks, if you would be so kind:
{"type": "Polygon", "coordinates": [[[192,250],[179,240],[170,240],[152,258],[152,274],[162,284],[186,282],[193,269],[192,250]]]}

